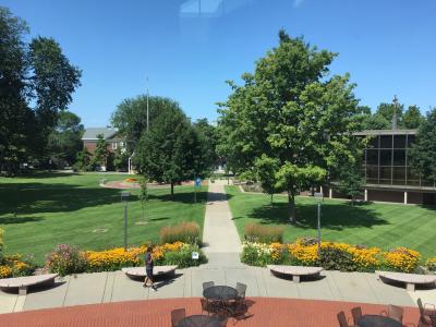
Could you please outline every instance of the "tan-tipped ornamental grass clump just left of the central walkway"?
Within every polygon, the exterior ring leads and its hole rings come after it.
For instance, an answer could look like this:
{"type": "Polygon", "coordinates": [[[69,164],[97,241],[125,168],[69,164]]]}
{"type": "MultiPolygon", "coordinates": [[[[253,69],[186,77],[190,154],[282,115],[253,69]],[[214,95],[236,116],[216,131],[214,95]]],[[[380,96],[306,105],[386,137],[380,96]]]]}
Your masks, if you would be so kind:
{"type": "Polygon", "coordinates": [[[160,229],[160,242],[174,243],[184,242],[199,244],[199,226],[196,222],[181,222],[175,226],[166,226],[160,229]]]}

